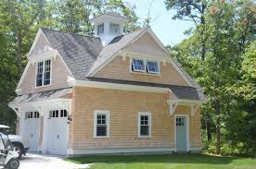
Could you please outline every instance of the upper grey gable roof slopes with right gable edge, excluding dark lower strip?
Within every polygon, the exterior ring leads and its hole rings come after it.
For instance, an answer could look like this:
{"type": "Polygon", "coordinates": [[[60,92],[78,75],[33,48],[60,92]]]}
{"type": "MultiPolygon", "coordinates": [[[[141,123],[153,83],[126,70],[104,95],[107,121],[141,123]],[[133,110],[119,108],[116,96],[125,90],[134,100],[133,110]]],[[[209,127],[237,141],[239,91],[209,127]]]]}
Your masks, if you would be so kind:
{"type": "MultiPolygon", "coordinates": [[[[78,80],[88,79],[93,72],[107,65],[111,58],[115,57],[125,46],[138,40],[145,32],[148,32],[160,47],[169,54],[152,30],[148,28],[115,37],[105,47],[102,45],[100,39],[96,37],[58,30],[41,29],[39,30],[39,33],[41,32],[44,34],[46,41],[49,42],[51,47],[58,50],[60,57],[70,69],[73,78],[78,80]]],[[[193,78],[186,74],[173,57],[170,56],[168,58],[173,60],[173,66],[186,81],[188,81],[189,84],[192,84],[191,86],[196,89],[198,92],[198,99],[205,100],[206,98],[202,89],[193,78]]]]}

